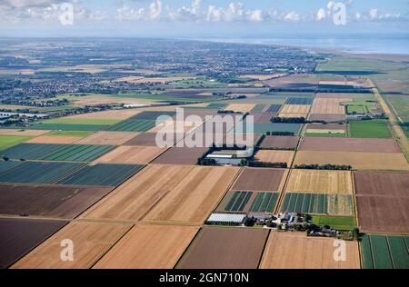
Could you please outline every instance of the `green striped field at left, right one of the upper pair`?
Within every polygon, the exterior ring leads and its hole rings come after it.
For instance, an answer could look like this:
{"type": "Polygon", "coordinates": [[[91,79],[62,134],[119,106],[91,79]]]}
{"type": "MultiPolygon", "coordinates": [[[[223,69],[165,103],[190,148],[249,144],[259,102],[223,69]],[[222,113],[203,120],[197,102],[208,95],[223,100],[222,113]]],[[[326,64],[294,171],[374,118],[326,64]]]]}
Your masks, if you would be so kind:
{"type": "Polygon", "coordinates": [[[92,162],[115,149],[115,145],[72,144],[44,158],[45,161],[92,162]]]}

